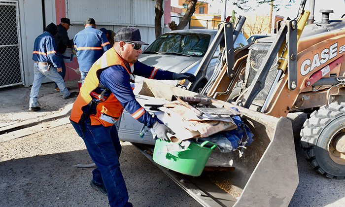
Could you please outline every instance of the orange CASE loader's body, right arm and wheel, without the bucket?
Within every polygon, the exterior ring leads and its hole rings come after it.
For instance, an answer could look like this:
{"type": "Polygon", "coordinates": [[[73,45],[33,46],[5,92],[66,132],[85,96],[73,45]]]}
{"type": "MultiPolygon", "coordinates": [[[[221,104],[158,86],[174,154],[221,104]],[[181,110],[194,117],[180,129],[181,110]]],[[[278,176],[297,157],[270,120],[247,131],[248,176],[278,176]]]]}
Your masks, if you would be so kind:
{"type": "Polygon", "coordinates": [[[345,177],[345,19],[305,26],[308,11],[281,25],[276,37],[259,39],[248,54],[223,68],[207,96],[275,117],[308,115],[301,147],[311,166],[329,178],[345,177]],[[227,70],[227,71],[226,71],[227,70]]]}

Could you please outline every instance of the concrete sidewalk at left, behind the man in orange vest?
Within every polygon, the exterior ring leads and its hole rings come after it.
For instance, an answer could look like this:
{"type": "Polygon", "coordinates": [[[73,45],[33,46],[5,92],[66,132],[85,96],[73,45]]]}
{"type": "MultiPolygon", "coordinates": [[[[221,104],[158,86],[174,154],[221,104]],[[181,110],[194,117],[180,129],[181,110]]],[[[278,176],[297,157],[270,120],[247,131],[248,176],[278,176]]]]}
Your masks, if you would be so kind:
{"type": "MultiPolygon", "coordinates": [[[[70,92],[78,92],[78,80],[67,80],[70,92]]],[[[15,86],[0,89],[0,135],[36,125],[38,123],[69,116],[75,98],[63,99],[55,91],[55,83],[44,83],[39,90],[41,110],[29,111],[31,87],[15,86]]],[[[1,140],[0,140],[1,141],[1,140]]]]}

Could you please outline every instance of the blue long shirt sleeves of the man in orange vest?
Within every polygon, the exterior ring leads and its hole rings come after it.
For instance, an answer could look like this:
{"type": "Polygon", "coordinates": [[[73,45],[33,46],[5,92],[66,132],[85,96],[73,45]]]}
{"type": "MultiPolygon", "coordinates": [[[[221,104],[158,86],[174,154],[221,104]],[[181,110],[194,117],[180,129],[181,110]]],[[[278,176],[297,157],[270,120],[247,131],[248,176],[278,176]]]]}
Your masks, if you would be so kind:
{"type": "MultiPolygon", "coordinates": [[[[139,61],[134,64],[133,74],[157,80],[173,79],[173,72],[150,67],[139,61]]],[[[152,127],[155,119],[135,99],[131,88],[130,74],[123,66],[110,66],[102,70],[99,77],[100,83],[110,89],[117,100],[134,118],[147,127],[152,127]]]]}

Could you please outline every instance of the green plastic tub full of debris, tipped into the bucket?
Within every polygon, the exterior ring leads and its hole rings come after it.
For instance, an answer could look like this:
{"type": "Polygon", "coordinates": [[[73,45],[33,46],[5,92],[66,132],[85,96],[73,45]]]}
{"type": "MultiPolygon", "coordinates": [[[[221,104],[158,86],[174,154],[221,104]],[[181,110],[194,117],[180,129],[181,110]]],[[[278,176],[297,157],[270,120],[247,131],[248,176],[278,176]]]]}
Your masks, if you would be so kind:
{"type": "Polygon", "coordinates": [[[202,144],[191,143],[184,151],[167,152],[166,145],[178,144],[161,139],[156,140],[153,150],[153,160],[168,169],[178,173],[199,176],[203,172],[211,151],[217,144],[204,141],[202,144]],[[207,144],[207,146],[205,146],[207,144]],[[211,145],[210,147],[208,147],[211,145]]]}

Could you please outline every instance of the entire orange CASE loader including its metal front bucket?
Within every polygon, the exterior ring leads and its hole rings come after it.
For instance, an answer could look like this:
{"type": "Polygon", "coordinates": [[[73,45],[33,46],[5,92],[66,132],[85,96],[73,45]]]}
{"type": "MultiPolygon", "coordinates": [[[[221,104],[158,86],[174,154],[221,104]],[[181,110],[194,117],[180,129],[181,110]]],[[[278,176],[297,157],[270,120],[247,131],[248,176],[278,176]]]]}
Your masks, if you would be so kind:
{"type": "MultiPolygon", "coordinates": [[[[221,24],[195,73],[198,82],[219,45],[219,64],[202,95],[144,81],[141,95],[166,100],[207,95],[224,107],[236,106],[254,134],[242,156],[213,151],[206,165],[213,168],[198,177],[157,165],[205,207],[287,207],[299,182],[294,145],[299,131],[317,172],[345,176],[345,19],[329,20],[332,12],[323,10],[321,22],[306,26],[305,4],[302,0],[295,19],[279,25],[276,36],[236,51],[233,41],[245,18],[235,29],[221,24]],[[286,118],[293,113],[306,117],[304,124],[286,118]]],[[[136,145],[152,161],[152,146],[136,145]]]]}

